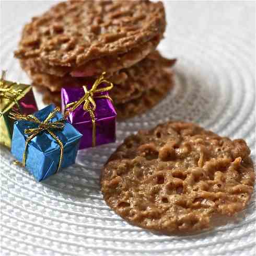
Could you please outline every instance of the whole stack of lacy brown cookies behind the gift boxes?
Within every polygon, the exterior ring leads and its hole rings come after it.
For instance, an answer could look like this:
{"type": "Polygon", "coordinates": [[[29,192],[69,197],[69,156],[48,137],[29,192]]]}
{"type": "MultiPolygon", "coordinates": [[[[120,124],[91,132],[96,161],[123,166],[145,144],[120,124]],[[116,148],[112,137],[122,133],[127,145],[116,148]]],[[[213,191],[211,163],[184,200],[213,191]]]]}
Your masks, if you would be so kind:
{"type": "Polygon", "coordinates": [[[68,1],[33,18],[15,56],[43,94],[61,103],[62,87],[83,86],[107,72],[119,119],[153,107],[172,86],[175,60],[156,51],[165,9],[150,1],[68,1]]]}

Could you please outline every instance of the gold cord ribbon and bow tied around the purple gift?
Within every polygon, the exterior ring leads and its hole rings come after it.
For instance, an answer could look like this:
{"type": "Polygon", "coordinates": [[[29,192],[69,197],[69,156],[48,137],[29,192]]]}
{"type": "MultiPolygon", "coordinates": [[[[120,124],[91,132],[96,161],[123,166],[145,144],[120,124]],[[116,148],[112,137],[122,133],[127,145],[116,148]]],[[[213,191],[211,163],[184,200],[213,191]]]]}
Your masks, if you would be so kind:
{"type": "Polygon", "coordinates": [[[96,103],[94,99],[105,98],[112,101],[112,99],[108,95],[99,95],[99,96],[95,95],[100,92],[109,91],[113,88],[113,84],[104,79],[105,74],[106,72],[103,72],[101,74],[101,76],[95,81],[94,85],[92,85],[90,90],[88,90],[86,86],[83,86],[85,95],[79,100],[67,104],[64,110],[64,117],[66,118],[72,111],[78,108],[80,104],[84,103],[83,109],[89,113],[91,117],[91,122],[92,122],[92,147],[96,146],[96,119],[95,119],[95,113],[94,113],[96,110],[96,103]],[[101,83],[106,83],[109,86],[98,89],[98,86],[101,83]]]}

